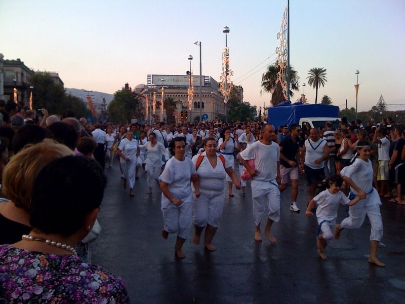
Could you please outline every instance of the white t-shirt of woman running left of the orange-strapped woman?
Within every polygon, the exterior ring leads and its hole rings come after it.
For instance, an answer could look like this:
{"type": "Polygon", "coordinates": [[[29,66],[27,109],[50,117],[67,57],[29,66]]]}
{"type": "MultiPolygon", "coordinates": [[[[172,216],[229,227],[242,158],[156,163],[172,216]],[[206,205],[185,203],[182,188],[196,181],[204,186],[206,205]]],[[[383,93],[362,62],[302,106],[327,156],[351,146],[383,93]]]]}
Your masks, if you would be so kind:
{"type": "MultiPolygon", "coordinates": [[[[195,166],[189,158],[179,161],[172,157],[166,163],[165,170],[159,179],[169,184],[172,195],[184,202],[192,202],[191,175],[196,174],[195,166]]],[[[173,203],[164,195],[161,195],[161,207],[169,207],[173,203]]]]}

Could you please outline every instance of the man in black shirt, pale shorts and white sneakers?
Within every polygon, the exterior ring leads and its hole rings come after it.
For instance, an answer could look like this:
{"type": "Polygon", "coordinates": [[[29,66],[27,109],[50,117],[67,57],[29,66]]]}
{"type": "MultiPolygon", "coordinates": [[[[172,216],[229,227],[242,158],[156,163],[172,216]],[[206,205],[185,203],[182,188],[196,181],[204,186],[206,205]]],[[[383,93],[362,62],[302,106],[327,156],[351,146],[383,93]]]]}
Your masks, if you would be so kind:
{"type": "Polygon", "coordinates": [[[290,210],[300,212],[297,207],[298,196],[298,170],[300,168],[300,132],[301,127],[297,124],[291,125],[291,134],[288,134],[278,144],[280,146],[280,175],[281,183],[278,186],[280,192],[285,191],[288,182],[291,180],[291,205],[290,210]]]}

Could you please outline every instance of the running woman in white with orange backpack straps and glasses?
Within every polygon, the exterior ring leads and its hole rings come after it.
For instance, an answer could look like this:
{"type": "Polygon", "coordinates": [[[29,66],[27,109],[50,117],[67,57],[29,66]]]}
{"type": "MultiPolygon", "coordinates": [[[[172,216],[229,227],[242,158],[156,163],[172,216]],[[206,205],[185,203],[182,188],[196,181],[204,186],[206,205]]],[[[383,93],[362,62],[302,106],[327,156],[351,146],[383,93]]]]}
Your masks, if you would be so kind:
{"type": "Polygon", "coordinates": [[[217,232],[219,219],[224,208],[224,179],[226,174],[232,178],[236,189],[240,189],[240,182],[228,159],[217,154],[215,138],[206,138],[204,148],[203,153],[192,158],[197,171],[201,194],[199,198],[194,197],[193,222],[195,233],[193,243],[199,244],[201,233],[206,227],[204,246],[209,251],[214,251],[215,247],[211,245],[211,241],[217,232]]]}

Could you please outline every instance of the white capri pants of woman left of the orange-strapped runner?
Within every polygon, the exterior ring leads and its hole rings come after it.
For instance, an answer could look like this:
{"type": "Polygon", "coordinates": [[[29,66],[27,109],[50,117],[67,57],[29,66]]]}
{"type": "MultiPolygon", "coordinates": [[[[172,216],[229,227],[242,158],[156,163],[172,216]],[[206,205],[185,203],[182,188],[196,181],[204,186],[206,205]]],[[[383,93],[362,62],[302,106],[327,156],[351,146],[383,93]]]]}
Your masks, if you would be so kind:
{"type": "Polygon", "coordinates": [[[177,232],[178,237],[187,239],[192,226],[193,203],[183,202],[179,207],[172,204],[169,207],[161,208],[161,211],[165,223],[164,229],[168,233],[177,232]]]}

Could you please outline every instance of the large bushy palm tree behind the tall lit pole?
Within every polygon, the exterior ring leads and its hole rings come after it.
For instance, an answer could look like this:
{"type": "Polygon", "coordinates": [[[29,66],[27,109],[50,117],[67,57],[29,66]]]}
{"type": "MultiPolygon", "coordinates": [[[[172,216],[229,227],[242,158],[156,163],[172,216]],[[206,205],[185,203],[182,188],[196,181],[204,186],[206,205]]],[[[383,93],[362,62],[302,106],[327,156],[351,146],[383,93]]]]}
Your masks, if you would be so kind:
{"type": "MultiPolygon", "coordinates": [[[[267,71],[262,75],[262,90],[261,92],[269,92],[271,94],[271,103],[277,105],[284,101],[284,95],[282,94],[281,84],[277,82],[277,74],[279,67],[274,65],[269,65],[267,71]]],[[[298,91],[300,83],[300,78],[298,77],[297,71],[290,66],[290,97],[294,96],[294,92],[298,91]]]]}

